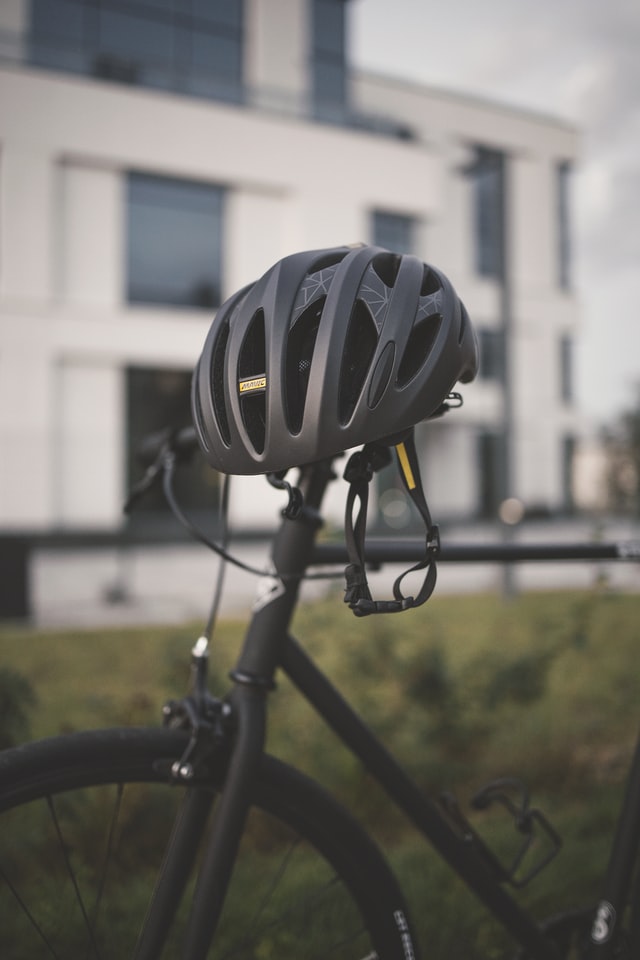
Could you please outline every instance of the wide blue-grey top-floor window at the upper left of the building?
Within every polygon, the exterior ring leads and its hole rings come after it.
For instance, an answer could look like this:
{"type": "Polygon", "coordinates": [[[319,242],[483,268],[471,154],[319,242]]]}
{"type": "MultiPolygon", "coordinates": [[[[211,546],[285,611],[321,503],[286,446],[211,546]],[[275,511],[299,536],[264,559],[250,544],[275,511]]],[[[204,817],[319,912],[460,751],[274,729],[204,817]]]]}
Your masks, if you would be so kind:
{"type": "Polygon", "coordinates": [[[238,102],[243,23],[243,0],[33,0],[30,59],[238,102]]]}

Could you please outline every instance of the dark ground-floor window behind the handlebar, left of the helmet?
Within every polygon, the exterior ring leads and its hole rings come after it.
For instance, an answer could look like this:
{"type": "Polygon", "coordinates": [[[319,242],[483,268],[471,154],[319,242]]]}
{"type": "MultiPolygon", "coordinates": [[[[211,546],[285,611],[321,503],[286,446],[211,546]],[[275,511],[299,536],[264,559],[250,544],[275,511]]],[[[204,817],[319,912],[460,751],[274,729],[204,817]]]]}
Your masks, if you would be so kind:
{"type": "MultiPolygon", "coordinates": [[[[130,367],[126,372],[127,411],[127,482],[128,489],[144,471],[137,452],[141,441],[150,433],[165,429],[178,430],[191,424],[191,371],[158,370],[130,367]]],[[[218,475],[199,456],[191,464],[181,466],[175,473],[175,493],[187,512],[215,513],[215,490],[218,475]]],[[[201,517],[198,516],[198,522],[201,517]]],[[[136,504],[131,524],[139,530],[152,532],[173,524],[162,490],[152,488],[136,504]]]]}

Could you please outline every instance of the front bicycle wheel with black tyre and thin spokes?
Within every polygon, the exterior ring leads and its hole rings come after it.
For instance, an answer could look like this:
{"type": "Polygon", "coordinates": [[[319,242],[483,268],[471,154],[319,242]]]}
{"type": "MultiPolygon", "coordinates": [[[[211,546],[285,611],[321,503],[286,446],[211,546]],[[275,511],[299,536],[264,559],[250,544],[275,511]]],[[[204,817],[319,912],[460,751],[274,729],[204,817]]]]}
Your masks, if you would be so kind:
{"type": "MultiPolygon", "coordinates": [[[[161,835],[173,823],[168,807],[183,795],[166,771],[186,741],[181,731],[114,729],[0,754],[3,956],[134,954],[161,835]]],[[[224,767],[212,760],[197,788],[217,792],[224,767]]],[[[357,821],[309,778],[265,756],[210,956],[413,960],[406,917],[393,875],[357,821]]],[[[182,921],[181,911],[162,956],[177,955],[182,921]]]]}

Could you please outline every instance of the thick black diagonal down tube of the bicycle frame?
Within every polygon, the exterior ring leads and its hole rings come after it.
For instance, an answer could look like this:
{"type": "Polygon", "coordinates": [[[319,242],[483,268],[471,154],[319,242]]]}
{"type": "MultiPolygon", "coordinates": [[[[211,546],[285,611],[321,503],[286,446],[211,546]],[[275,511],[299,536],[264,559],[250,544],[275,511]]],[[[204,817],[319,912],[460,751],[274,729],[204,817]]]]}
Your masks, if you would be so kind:
{"type": "Polygon", "coordinates": [[[495,876],[449,825],[437,806],[360,719],[305,651],[288,637],[282,669],[342,742],[358,757],[390,799],[430,841],[449,866],[508,930],[531,960],[558,960],[558,952],[535,921],[500,886],[495,876]]]}

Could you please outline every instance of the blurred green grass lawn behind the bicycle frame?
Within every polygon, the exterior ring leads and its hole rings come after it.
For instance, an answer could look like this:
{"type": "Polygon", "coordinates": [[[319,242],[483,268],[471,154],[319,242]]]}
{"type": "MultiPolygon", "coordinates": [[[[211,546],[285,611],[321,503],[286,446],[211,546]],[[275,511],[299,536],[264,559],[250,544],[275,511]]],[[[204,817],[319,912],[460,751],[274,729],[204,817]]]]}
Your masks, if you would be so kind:
{"type": "MultiPolygon", "coordinates": [[[[527,781],[534,804],[567,841],[523,894],[545,914],[563,899],[569,905],[597,896],[640,720],[639,611],[637,596],[594,589],[524,594],[509,603],[490,595],[435,597],[402,617],[358,620],[334,597],[302,607],[294,632],[426,792],[454,791],[468,813],[468,798],[487,781],[527,781]]],[[[158,722],[163,702],[186,690],[197,635],[198,625],[0,630],[4,742],[158,722]],[[12,699],[22,713],[7,714],[12,699]]],[[[241,638],[240,624],[219,624],[214,692],[225,689],[241,638]]],[[[285,678],[273,697],[269,747],[361,811],[402,874],[434,957],[461,955],[461,933],[478,956],[501,955],[500,942],[485,939],[482,913],[409,836],[285,678]]],[[[496,849],[517,840],[504,812],[473,817],[496,849]]]]}

